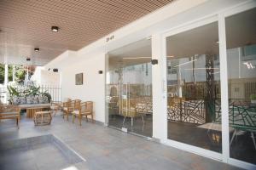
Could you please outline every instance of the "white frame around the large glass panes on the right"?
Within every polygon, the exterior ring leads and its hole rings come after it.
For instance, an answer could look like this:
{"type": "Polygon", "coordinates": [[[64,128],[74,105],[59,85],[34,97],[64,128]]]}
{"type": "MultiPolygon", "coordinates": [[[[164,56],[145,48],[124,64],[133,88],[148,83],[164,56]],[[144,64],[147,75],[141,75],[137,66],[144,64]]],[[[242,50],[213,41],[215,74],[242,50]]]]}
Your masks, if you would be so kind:
{"type": "Polygon", "coordinates": [[[163,72],[163,82],[164,90],[163,96],[165,102],[163,103],[163,107],[165,107],[164,115],[162,119],[165,119],[163,122],[165,124],[161,125],[163,127],[163,131],[165,135],[160,139],[161,143],[170,145],[172,147],[187,150],[189,152],[207,156],[217,161],[223,161],[225,163],[229,163],[231,165],[235,165],[236,167],[242,167],[246,169],[256,168],[256,165],[252,163],[248,163],[245,161],[240,161],[234,158],[230,158],[230,133],[229,133],[229,94],[228,94],[228,68],[227,68],[227,49],[226,49],[226,35],[225,35],[225,18],[239,14],[243,11],[247,11],[251,8],[256,8],[256,3],[253,0],[248,0],[243,3],[239,3],[234,7],[226,8],[223,11],[218,11],[215,14],[209,14],[203,18],[192,20],[183,25],[176,26],[169,31],[163,32],[161,34],[162,41],[162,56],[161,59],[164,62],[162,72],[163,72]],[[189,31],[195,29],[199,26],[205,26],[212,22],[218,22],[218,41],[219,41],[219,60],[220,60],[220,71],[222,74],[220,75],[220,83],[221,83],[221,112],[222,112],[222,153],[218,153],[212,150],[206,150],[194,145],[184,144],[182,142],[177,142],[172,139],[167,138],[167,74],[166,74],[166,37],[170,37],[176,35],[178,33],[189,31]]]}

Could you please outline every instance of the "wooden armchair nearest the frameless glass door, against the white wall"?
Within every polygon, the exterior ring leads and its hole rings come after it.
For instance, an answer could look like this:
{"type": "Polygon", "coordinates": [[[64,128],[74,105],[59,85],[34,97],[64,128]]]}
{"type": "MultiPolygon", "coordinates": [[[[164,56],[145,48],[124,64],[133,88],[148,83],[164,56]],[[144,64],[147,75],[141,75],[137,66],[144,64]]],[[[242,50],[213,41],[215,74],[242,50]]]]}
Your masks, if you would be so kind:
{"type": "Polygon", "coordinates": [[[86,101],[86,102],[80,103],[79,111],[73,111],[72,114],[73,114],[73,122],[74,122],[74,119],[78,116],[80,126],[81,126],[83,116],[86,117],[87,122],[88,122],[88,116],[91,116],[91,122],[94,122],[94,120],[93,120],[93,102],[86,101]]]}

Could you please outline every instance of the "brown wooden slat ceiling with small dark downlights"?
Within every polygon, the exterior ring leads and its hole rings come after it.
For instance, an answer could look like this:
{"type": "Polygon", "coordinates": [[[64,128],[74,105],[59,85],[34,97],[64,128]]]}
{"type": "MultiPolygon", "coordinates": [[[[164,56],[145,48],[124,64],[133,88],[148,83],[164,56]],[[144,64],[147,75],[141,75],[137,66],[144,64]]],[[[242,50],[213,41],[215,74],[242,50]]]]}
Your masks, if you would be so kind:
{"type": "Polygon", "coordinates": [[[1,0],[0,61],[22,63],[31,57],[32,65],[44,65],[65,50],[83,48],[172,1],[1,0]],[[51,26],[60,31],[50,31],[51,26]],[[41,49],[37,56],[35,47],[41,49]]]}

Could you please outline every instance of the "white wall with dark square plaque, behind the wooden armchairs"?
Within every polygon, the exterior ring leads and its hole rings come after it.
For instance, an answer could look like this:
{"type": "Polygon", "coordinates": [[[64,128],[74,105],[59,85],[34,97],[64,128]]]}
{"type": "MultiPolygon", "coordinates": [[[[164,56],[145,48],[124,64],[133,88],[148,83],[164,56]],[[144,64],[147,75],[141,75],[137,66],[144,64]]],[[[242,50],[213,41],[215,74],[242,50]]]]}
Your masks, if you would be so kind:
{"type": "MultiPolygon", "coordinates": [[[[72,55],[70,58],[74,57],[72,55]]],[[[96,121],[105,122],[105,54],[76,56],[76,61],[61,68],[61,100],[67,98],[94,102],[96,121]],[[84,74],[83,85],[75,85],[75,74],[84,74]]]]}

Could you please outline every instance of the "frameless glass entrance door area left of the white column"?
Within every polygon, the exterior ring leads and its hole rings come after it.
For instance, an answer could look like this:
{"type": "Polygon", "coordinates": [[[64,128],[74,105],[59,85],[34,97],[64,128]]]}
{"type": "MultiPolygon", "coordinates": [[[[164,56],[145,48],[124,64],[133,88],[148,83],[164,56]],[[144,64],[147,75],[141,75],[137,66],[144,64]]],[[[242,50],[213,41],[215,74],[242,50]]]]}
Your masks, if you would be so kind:
{"type": "Polygon", "coordinates": [[[109,52],[108,124],[152,137],[151,41],[109,52]]]}

